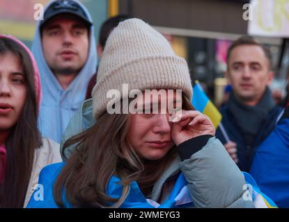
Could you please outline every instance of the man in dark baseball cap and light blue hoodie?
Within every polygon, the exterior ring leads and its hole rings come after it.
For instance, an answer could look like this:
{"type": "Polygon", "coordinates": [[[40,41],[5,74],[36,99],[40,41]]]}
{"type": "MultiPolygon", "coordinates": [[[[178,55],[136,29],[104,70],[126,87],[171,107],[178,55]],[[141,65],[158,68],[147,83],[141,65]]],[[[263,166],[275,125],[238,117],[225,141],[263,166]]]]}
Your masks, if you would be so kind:
{"type": "Polygon", "coordinates": [[[51,1],[36,27],[31,51],[38,62],[42,101],[38,124],[43,137],[60,142],[68,121],[84,101],[97,67],[93,21],[72,0],[51,1]]]}

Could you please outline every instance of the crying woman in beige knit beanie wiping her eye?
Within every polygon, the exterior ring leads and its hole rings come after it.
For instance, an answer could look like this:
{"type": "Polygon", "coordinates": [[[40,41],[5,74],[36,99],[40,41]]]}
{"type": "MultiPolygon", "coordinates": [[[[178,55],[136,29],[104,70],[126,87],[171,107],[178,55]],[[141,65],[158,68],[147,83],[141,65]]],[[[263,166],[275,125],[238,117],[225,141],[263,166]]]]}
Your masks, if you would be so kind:
{"type": "Polygon", "coordinates": [[[254,207],[190,103],[187,62],[148,24],[127,19],[111,32],[92,97],[97,121],[65,142],[76,146],[66,162],[42,170],[44,200],[28,207],[254,207]]]}

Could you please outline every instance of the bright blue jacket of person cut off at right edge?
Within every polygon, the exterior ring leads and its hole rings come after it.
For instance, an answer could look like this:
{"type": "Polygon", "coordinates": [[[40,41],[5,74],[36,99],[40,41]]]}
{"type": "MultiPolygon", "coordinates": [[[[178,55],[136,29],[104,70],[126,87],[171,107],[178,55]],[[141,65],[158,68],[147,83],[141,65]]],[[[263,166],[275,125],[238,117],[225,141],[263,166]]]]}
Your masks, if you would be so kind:
{"type": "Polygon", "coordinates": [[[251,167],[260,189],[279,207],[289,207],[289,108],[286,112],[258,148],[251,167]]]}

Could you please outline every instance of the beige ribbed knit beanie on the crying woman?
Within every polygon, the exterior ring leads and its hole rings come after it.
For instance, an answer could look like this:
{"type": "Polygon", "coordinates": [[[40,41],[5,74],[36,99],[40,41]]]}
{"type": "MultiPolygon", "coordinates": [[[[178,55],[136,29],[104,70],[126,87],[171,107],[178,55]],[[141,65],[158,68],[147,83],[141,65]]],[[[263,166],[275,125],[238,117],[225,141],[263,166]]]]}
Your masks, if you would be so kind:
{"type": "MultiPolygon", "coordinates": [[[[107,40],[97,83],[93,88],[93,115],[106,112],[110,89],[182,89],[192,99],[187,62],[175,55],[166,38],[141,19],[127,19],[114,28],[107,40]]],[[[123,96],[128,96],[124,95],[123,96]]]]}

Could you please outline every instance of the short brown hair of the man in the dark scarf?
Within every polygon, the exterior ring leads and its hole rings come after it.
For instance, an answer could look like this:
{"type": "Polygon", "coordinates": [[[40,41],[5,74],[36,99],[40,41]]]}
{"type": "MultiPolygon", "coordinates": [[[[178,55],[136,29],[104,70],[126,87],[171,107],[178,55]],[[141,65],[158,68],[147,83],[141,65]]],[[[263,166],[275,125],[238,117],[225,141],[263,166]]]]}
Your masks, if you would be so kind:
{"type": "Polygon", "coordinates": [[[271,56],[270,50],[267,49],[266,46],[264,46],[263,44],[260,44],[260,42],[258,42],[257,40],[255,40],[253,37],[249,35],[244,35],[238,38],[229,47],[228,53],[227,53],[227,67],[228,67],[227,69],[229,69],[229,60],[230,60],[233,49],[235,49],[237,46],[243,46],[243,45],[260,46],[260,48],[264,51],[265,56],[268,60],[269,70],[272,69],[272,56],[271,56]]]}

